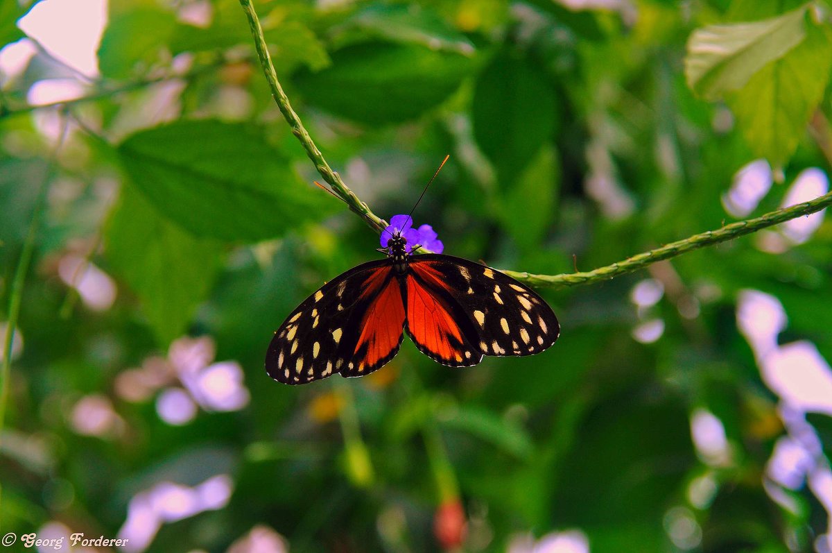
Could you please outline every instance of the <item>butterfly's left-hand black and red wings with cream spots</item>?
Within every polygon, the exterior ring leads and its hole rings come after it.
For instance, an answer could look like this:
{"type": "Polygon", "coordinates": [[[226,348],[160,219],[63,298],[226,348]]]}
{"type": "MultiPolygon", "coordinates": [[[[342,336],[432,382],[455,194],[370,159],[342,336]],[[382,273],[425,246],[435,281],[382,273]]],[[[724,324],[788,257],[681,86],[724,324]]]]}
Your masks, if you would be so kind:
{"type": "Polygon", "coordinates": [[[369,374],[399,351],[403,326],[404,306],[391,262],[363,263],[321,286],[292,311],[275,331],[265,370],[292,385],[336,372],[369,374]]]}

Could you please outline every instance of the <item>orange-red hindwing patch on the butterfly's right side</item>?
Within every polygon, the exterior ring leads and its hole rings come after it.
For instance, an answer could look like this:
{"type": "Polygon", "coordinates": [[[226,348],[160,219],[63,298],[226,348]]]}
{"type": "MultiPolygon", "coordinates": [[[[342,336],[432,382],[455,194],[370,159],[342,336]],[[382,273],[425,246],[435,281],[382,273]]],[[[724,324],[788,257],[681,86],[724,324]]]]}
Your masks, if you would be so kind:
{"type": "Polygon", "coordinates": [[[420,351],[443,365],[476,365],[483,358],[468,347],[443,300],[413,277],[408,278],[408,334],[420,351]]]}

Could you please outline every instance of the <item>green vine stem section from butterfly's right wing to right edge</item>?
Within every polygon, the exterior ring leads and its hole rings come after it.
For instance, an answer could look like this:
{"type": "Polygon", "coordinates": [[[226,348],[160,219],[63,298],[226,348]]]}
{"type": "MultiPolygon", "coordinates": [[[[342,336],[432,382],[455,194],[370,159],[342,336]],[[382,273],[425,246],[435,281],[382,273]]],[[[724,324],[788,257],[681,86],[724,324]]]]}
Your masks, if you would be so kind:
{"type": "Polygon", "coordinates": [[[614,277],[619,277],[628,272],[638,271],[650,265],[651,263],[660,262],[663,259],[670,259],[671,257],[679,256],[692,250],[697,250],[701,247],[713,246],[720,242],[727,242],[734,238],[745,236],[752,232],[757,232],[766,227],[773,227],[781,222],[796,219],[810,215],[811,213],[820,212],[821,209],[832,204],[832,192],[821,197],[816,197],[810,202],[803,202],[791,207],[784,207],[774,212],[766,213],[761,217],[754,219],[746,219],[745,221],[732,222],[716,231],[701,232],[692,237],[671,242],[662,247],[657,247],[655,250],[649,252],[639,253],[636,256],[628,257],[622,262],[607,265],[607,267],[600,267],[590,272],[573,272],[562,275],[533,275],[527,272],[515,272],[501,269],[509,277],[524,281],[532,286],[552,286],[564,288],[567,286],[577,286],[579,284],[592,284],[595,282],[608,281],[614,277]]]}

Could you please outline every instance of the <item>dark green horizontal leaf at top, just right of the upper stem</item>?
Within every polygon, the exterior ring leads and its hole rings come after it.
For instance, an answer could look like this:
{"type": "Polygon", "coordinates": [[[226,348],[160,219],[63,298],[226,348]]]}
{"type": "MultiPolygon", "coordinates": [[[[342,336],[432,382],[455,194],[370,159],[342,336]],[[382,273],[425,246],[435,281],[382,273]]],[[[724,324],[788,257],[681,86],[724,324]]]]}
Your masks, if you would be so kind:
{"type": "Polygon", "coordinates": [[[310,103],[354,121],[403,122],[437,106],[473,68],[470,57],[413,44],[364,42],[332,54],[324,71],[296,84],[310,103]]]}

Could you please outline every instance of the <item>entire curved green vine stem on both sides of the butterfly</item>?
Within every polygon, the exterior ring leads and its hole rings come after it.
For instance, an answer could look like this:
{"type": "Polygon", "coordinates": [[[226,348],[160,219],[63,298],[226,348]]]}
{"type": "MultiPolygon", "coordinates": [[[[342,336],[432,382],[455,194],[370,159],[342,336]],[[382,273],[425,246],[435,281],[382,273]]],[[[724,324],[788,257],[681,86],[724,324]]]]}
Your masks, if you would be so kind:
{"type": "MultiPolygon", "coordinates": [[[[257,55],[260,58],[260,65],[263,66],[263,72],[265,73],[266,80],[269,82],[269,86],[271,87],[272,95],[275,97],[275,102],[277,102],[278,107],[280,107],[280,112],[283,113],[286,121],[289,122],[290,127],[292,127],[292,132],[295,134],[295,137],[300,140],[300,143],[305,148],[307,155],[310,157],[315,167],[317,167],[321,176],[324,177],[324,180],[329,182],[329,185],[333,188],[334,193],[337,194],[339,198],[344,200],[352,211],[358,213],[360,217],[364,218],[364,221],[367,222],[370,227],[374,228],[376,232],[381,232],[386,226],[386,223],[374,215],[374,213],[370,211],[369,207],[367,207],[367,204],[362,202],[359,197],[354,194],[354,192],[349,190],[349,187],[344,184],[338,173],[334,172],[329,167],[329,163],[327,163],[324,159],[324,155],[319,151],[318,147],[314,145],[309,132],[306,132],[303,123],[300,122],[300,117],[298,117],[298,114],[292,109],[289,103],[289,98],[286,97],[285,92],[283,92],[283,88],[280,87],[280,82],[277,80],[275,67],[272,65],[269,50],[266,47],[263,29],[260,27],[260,20],[257,18],[254,7],[251,5],[251,0],[240,0],[240,4],[245,10],[245,15],[249,19],[251,35],[255,40],[255,48],[257,50],[257,55]]],[[[819,212],[821,209],[829,206],[830,204],[832,204],[832,192],[830,192],[830,194],[826,194],[825,196],[815,198],[811,202],[804,202],[792,207],[785,207],[774,212],[766,213],[762,217],[734,222],[716,231],[702,232],[701,234],[696,234],[678,242],[671,242],[666,246],[656,248],[655,250],[651,250],[649,252],[640,253],[636,256],[629,257],[622,262],[613,263],[607,267],[600,267],[590,272],[575,272],[562,275],[535,275],[528,272],[516,272],[503,269],[500,271],[510,277],[516,278],[518,281],[526,282],[531,286],[567,287],[607,281],[628,272],[638,271],[639,269],[647,267],[651,263],[676,257],[685,252],[691,252],[691,250],[696,250],[701,247],[711,246],[720,242],[726,242],[737,237],[745,236],[751,232],[757,232],[760,229],[772,227],[781,222],[795,219],[796,217],[802,217],[804,215],[809,215],[810,213],[819,212]]]]}

